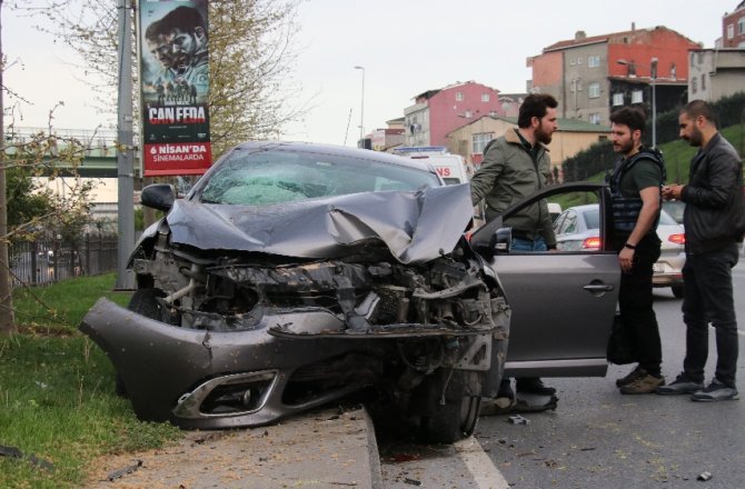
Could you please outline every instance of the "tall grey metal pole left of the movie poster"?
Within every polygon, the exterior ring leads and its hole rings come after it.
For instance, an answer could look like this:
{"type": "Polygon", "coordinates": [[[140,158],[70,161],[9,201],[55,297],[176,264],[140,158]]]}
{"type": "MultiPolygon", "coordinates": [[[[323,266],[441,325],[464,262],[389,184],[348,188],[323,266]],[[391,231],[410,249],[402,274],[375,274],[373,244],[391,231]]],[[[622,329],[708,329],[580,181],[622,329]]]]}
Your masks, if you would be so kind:
{"type": "Polygon", "coordinates": [[[127,270],[135,248],[135,147],[132,138],[132,1],[117,0],[119,20],[119,98],[117,103],[117,178],[119,190],[119,246],[116,290],[135,288],[127,270]]]}

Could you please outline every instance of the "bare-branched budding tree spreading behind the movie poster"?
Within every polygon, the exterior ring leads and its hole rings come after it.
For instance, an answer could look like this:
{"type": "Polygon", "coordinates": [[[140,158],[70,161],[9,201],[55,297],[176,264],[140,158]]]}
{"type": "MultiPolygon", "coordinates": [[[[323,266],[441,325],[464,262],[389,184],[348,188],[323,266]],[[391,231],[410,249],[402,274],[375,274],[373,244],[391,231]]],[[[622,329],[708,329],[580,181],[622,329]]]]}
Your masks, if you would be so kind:
{"type": "MultiPolygon", "coordinates": [[[[215,157],[240,141],[276,137],[284,124],[307,112],[307,104],[289,102],[299,92],[291,77],[298,56],[299,1],[210,0],[208,108],[215,157]]],[[[47,0],[46,8],[29,13],[46,16],[43,29],[80,54],[81,79],[96,89],[101,110],[112,110],[118,76],[116,2],[47,0]],[[88,77],[91,73],[96,76],[88,77]]]]}

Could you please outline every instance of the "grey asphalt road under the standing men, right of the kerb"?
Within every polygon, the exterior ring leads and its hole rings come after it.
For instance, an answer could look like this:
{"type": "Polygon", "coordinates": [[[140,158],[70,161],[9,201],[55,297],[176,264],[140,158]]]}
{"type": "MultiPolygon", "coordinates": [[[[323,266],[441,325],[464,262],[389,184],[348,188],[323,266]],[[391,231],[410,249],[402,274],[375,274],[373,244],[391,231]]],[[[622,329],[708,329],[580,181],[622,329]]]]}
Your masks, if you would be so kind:
{"type": "MultiPolygon", "coordinates": [[[[744,260],[745,261],[745,260],[744,260]]],[[[745,351],[745,263],[734,270],[741,351],[745,351]]],[[[682,370],[685,327],[682,300],[656,289],[663,339],[663,373],[682,370]]],[[[745,487],[745,360],[738,365],[743,400],[699,403],[686,396],[622,396],[615,379],[629,366],[610,366],[605,378],[545,379],[558,389],[556,411],[483,417],[475,437],[453,447],[385,442],[386,488],[743,488],[745,487]],[[698,480],[709,472],[708,481],[698,480]]],[[[716,359],[709,341],[707,381],[716,359]]]]}

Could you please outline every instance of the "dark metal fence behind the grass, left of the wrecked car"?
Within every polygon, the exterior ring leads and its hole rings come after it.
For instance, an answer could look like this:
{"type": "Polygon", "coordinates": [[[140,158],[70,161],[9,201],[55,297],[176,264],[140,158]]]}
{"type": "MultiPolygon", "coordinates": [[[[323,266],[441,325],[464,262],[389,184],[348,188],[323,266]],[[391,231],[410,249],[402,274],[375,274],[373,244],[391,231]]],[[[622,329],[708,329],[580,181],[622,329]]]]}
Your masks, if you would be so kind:
{"type": "Polygon", "coordinates": [[[115,271],[117,246],[116,234],[85,234],[77,243],[62,240],[13,242],[10,246],[12,286],[41,286],[70,277],[115,271]]]}

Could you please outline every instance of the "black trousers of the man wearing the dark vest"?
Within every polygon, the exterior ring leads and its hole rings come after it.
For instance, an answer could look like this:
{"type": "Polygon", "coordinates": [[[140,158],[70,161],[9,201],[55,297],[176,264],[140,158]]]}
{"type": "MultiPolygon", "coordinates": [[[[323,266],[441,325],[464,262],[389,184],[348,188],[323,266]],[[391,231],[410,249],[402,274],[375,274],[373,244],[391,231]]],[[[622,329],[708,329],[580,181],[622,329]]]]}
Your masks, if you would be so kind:
{"type": "MultiPolygon", "coordinates": [[[[615,232],[614,249],[620,251],[628,233],[615,232]]],[[[628,273],[620,273],[618,310],[624,326],[630,331],[634,353],[639,367],[658,376],[663,362],[657,316],[653,308],[653,265],[659,258],[660,241],[656,232],[645,236],[634,251],[634,266],[628,273]]]]}

